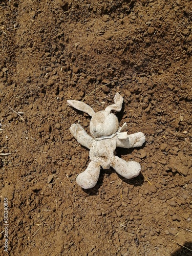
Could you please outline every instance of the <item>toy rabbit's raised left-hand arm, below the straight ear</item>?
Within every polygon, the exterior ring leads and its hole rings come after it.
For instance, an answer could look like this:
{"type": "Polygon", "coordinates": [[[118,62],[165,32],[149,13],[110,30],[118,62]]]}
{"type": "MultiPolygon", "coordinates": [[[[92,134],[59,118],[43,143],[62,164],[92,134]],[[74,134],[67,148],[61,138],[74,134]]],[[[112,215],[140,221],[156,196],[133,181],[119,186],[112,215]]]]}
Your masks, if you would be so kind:
{"type": "Polygon", "coordinates": [[[83,127],[80,124],[78,123],[72,124],[69,130],[81,145],[89,148],[90,150],[94,139],[91,136],[89,136],[86,133],[86,131],[84,131],[83,127]]]}

